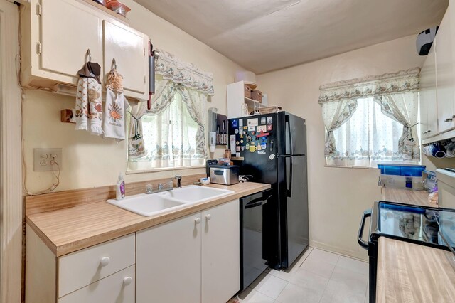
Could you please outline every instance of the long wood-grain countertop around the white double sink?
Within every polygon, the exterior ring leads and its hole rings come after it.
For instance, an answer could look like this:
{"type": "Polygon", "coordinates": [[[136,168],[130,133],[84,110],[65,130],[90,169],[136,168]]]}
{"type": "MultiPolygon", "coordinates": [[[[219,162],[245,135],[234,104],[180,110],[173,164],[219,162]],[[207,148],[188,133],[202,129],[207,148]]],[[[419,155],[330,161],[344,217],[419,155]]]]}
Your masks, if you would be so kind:
{"type": "Polygon", "coordinates": [[[43,213],[29,213],[26,223],[58,257],[270,188],[269,184],[254,182],[209,186],[229,189],[235,193],[158,216],[140,216],[102,201],[43,213]]]}

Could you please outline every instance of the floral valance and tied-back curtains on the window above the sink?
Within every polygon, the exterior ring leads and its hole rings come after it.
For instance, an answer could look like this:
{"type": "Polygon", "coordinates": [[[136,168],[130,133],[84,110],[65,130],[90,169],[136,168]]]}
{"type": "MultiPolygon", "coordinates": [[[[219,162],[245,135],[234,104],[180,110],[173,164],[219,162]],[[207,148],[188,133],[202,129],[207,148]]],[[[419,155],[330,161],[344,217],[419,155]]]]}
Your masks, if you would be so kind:
{"type": "MultiPolygon", "coordinates": [[[[192,159],[204,159],[205,151],[205,103],[208,97],[213,95],[213,76],[211,73],[205,73],[196,68],[191,63],[184,63],[170,53],[159,50],[159,58],[156,62],[156,79],[155,79],[155,94],[151,99],[151,110],[146,109],[146,102],[141,102],[134,106],[131,111],[129,121],[129,144],[128,144],[128,159],[129,161],[139,161],[139,158],[150,156],[151,151],[146,150],[144,143],[144,130],[142,117],[144,115],[160,115],[169,109],[174,101],[182,102],[186,105],[182,115],[191,117],[197,125],[196,131],[196,147],[194,152],[183,152],[182,147],[178,154],[192,159]]],[[[166,114],[171,115],[171,114],[166,114]]],[[[176,117],[174,119],[174,130],[176,129],[176,117]]],[[[184,126],[183,126],[184,127],[184,126]]],[[[156,127],[154,137],[161,137],[167,129],[156,127]]],[[[188,132],[184,132],[188,133],[188,132]]],[[[190,132],[191,133],[191,132],[190,132]]],[[[162,148],[162,147],[160,147],[162,148]]],[[[173,147],[173,153],[177,153],[177,147],[173,147]]],[[[153,158],[166,157],[163,153],[156,152],[153,158]]],[[[190,149],[188,149],[190,150],[190,149]]],[[[142,159],[145,160],[145,159],[142,159]]],[[[163,160],[163,159],[159,159],[163,160]]]]}

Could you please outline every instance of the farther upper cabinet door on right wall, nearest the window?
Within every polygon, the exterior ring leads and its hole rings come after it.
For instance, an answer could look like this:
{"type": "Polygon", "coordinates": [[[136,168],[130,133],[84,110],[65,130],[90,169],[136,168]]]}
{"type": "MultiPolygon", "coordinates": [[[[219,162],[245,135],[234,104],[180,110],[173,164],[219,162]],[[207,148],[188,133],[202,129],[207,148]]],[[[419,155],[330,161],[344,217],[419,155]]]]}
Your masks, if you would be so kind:
{"type": "Polygon", "coordinates": [[[435,59],[433,45],[420,72],[420,128],[423,139],[432,137],[438,132],[435,59]]]}

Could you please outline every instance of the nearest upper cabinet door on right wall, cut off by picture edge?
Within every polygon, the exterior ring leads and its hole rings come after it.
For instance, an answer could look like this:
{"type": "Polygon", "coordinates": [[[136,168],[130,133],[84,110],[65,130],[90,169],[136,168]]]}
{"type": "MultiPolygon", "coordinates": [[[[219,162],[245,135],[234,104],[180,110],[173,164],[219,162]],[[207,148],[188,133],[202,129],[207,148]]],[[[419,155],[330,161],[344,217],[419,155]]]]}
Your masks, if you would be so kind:
{"type": "MultiPolygon", "coordinates": [[[[451,6],[451,4],[449,4],[451,6]]],[[[451,8],[447,9],[434,43],[436,45],[438,132],[454,127],[455,74],[452,54],[451,8]]]]}

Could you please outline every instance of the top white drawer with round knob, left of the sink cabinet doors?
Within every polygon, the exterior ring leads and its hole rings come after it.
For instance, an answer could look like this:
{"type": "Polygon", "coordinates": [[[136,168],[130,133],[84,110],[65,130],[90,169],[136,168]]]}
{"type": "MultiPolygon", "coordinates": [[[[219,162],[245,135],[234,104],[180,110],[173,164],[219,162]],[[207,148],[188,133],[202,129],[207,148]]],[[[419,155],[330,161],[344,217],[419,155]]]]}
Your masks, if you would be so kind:
{"type": "Polygon", "coordinates": [[[59,257],[58,297],[134,265],[135,254],[133,233],[59,257]]]}

